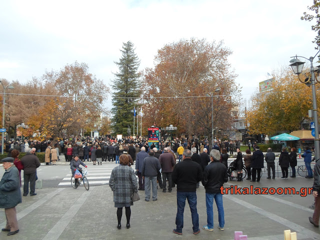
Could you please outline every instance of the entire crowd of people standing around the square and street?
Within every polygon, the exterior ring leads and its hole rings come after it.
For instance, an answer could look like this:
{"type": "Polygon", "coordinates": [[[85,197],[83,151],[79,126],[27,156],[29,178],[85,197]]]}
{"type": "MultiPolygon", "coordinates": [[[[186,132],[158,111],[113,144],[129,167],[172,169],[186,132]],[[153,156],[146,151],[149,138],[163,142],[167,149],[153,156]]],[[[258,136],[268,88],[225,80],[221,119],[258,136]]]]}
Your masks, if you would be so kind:
{"type": "MultiPolygon", "coordinates": [[[[158,149],[154,143],[149,144],[146,139],[133,139],[132,137],[116,140],[112,137],[100,137],[91,139],[89,137],[62,139],[61,141],[32,141],[24,140],[23,142],[7,141],[5,149],[8,157],[2,159],[5,174],[0,181],[0,198],[3,191],[12,192],[10,203],[6,201],[0,204],[5,208],[6,226],[2,231],[9,231],[8,235],[15,234],[19,231],[16,221],[15,206],[21,202],[21,170],[23,169],[23,196],[27,196],[30,189],[30,196],[36,195],[35,180],[36,168],[40,162],[36,157],[36,152],[45,153],[46,164],[55,165],[59,160],[59,153],[65,155],[65,160],[70,161],[72,174],[80,165],[85,167],[85,162],[92,161],[93,165],[102,161],[114,161],[117,165],[113,168],[109,179],[109,186],[113,191],[114,206],[117,208],[116,215],[118,219],[117,228],[121,228],[122,209],[125,207],[126,227],[130,227],[130,206],[133,205],[132,194],[138,190],[144,190],[144,200],[157,200],[157,185],[162,192],[171,192],[173,187],[177,191],[177,213],[175,218],[176,228],[173,232],[182,234],[183,228],[183,211],[185,201],[190,206],[191,218],[193,224],[193,233],[200,232],[199,217],[196,209],[196,188],[199,182],[205,188],[205,201],[207,224],[202,229],[213,230],[213,199],[218,210],[218,224],[220,230],[224,229],[224,210],[222,194],[220,187],[228,180],[228,158],[235,150],[234,169],[237,173],[237,180],[242,180],[243,166],[247,171],[247,178],[251,182],[260,181],[261,168],[266,161],[268,176],[267,179],[275,178],[275,154],[271,148],[263,155],[259,146],[248,144],[244,156],[240,151],[240,142],[236,141],[214,141],[212,148],[209,149],[207,140],[197,141],[192,139],[174,139],[173,141],[161,141],[158,149]],[[251,154],[250,147],[253,147],[251,154]],[[45,147],[45,148],[44,148],[45,147]],[[25,156],[19,159],[19,153],[26,152],[25,156]],[[135,171],[131,165],[135,161],[135,171]],[[136,176],[138,176],[138,180],[136,176]],[[12,181],[11,178],[14,178],[12,181]],[[8,184],[12,181],[14,184],[8,184]],[[30,184],[30,188],[29,188],[30,184]]],[[[288,167],[292,169],[292,175],[295,177],[295,166],[297,154],[294,147],[291,148],[290,154],[286,148],[282,148],[279,156],[279,165],[282,171],[281,178],[288,177],[288,167]]],[[[311,161],[311,152],[308,148],[302,154],[305,165],[308,170],[306,178],[312,178],[312,170],[309,169],[311,161]]],[[[320,168],[320,167],[319,167],[320,168]]],[[[318,175],[315,175],[315,180],[318,175]]],[[[320,183],[319,183],[320,184],[320,183]]],[[[77,184],[76,184],[77,185],[77,184]]],[[[315,192],[318,185],[314,185],[315,192]]],[[[313,194],[317,199],[317,193],[313,194]]],[[[318,224],[318,212],[320,212],[320,203],[316,202],[316,209],[313,218],[309,219],[314,225],[318,224]]]]}

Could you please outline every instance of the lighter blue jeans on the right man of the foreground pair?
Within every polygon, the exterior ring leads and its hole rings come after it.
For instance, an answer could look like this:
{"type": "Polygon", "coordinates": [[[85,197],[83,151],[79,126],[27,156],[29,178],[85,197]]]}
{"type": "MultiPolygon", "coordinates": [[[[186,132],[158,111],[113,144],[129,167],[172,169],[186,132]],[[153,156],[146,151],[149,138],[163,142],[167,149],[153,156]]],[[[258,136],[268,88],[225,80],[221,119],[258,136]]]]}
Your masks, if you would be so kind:
{"type": "Polygon", "coordinates": [[[219,193],[205,193],[205,206],[206,206],[206,222],[209,228],[213,228],[213,198],[216,207],[218,208],[219,226],[224,227],[224,210],[222,202],[222,194],[219,193]]]}

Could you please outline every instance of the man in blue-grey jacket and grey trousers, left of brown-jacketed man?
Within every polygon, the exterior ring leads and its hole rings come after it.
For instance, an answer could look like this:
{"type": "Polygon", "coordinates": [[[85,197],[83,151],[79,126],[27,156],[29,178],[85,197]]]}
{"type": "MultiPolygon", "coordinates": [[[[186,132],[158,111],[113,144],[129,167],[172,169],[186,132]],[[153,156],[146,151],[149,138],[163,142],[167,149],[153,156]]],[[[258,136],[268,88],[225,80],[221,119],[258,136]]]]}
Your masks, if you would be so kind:
{"type": "Polygon", "coordinates": [[[144,178],[144,200],[149,201],[150,199],[150,182],[152,184],[152,200],[157,200],[157,186],[156,186],[156,176],[157,172],[160,170],[161,165],[154,156],[154,151],[149,150],[149,156],[143,159],[141,175],[144,178]]]}

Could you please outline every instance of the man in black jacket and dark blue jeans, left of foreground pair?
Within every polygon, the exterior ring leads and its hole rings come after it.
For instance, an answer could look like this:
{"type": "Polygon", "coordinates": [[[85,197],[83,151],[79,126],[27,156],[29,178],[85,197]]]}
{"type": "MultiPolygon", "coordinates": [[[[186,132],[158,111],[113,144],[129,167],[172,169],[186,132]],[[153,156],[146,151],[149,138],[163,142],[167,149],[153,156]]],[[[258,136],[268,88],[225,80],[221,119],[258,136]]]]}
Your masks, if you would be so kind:
{"type": "Polygon", "coordinates": [[[185,199],[188,200],[191,210],[191,218],[193,224],[193,234],[200,232],[199,229],[199,215],[196,209],[196,183],[202,179],[201,166],[192,161],[191,151],[185,149],[183,151],[181,162],[178,162],[172,172],[172,180],[176,183],[176,202],[177,212],[175,217],[176,229],[173,232],[182,235],[183,227],[183,212],[185,206],[185,199]]]}

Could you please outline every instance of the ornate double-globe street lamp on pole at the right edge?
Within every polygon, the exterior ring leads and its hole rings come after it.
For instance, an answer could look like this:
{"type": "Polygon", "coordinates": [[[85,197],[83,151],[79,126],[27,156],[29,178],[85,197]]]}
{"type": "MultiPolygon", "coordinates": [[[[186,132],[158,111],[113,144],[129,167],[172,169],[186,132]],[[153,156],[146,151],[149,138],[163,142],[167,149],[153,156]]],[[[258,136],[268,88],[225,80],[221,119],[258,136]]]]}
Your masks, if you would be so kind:
{"type": "MultiPolygon", "coordinates": [[[[314,76],[314,67],[313,67],[313,59],[314,57],[320,52],[320,50],[314,55],[306,58],[304,56],[291,56],[293,59],[290,60],[289,64],[292,67],[294,74],[298,75],[299,81],[306,84],[307,86],[311,85],[312,88],[312,114],[313,114],[313,121],[314,121],[314,151],[315,151],[315,159],[320,158],[320,147],[319,147],[319,127],[318,127],[318,115],[317,115],[317,106],[316,106],[316,97],[315,97],[315,76],[314,76]],[[302,72],[304,61],[300,61],[298,57],[303,57],[310,61],[310,73],[311,78],[306,77],[304,79],[300,79],[299,74],[302,72]]],[[[318,70],[317,70],[318,71],[318,70]]],[[[320,82],[316,79],[317,82],[320,82]]]]}

